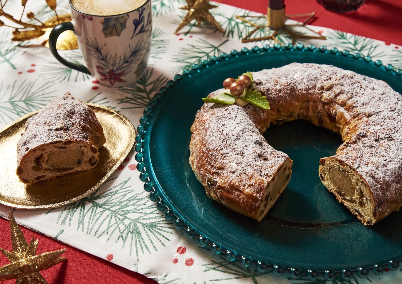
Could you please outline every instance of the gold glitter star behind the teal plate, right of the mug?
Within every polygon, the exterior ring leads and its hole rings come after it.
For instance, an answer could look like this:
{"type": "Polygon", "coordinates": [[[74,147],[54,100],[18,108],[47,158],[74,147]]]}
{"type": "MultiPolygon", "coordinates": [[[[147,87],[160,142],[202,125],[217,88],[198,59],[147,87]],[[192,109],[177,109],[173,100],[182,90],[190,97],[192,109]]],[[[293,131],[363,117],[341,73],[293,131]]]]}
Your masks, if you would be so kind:
{"type": "Polygon", "coordinates": [[[189,22],[194,19],[197,19],[198,27],[201,27],[201,20],[205,20],[209,22],[211,25],[214,25],[219,31],[224,33],[224,29],[222,29],[221,25],[213,18],[209,9],[217,8],[215,5],[209,4],[209,0],[186,0],[187,6],[180,7],[180,9],[187,10],[187,15],[183,18],[178,25],[176,31],[177,33],[181,29],[183,29],[189,22]]]}

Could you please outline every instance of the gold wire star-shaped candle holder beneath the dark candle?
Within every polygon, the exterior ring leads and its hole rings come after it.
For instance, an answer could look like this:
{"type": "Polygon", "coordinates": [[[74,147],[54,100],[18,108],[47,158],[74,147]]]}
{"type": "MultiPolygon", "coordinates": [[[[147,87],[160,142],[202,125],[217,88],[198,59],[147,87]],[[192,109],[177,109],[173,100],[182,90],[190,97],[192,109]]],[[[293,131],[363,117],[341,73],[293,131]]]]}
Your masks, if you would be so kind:
{"type": "Polygon", "coordinates": [[[248,23],[249,25],[251,25],[252,27],[255,28],[250,33],[248,33],[248,35],[246,35],[246,37],[244,37],[244,39],[242,39],[242,43],[249,43],[249,42],[253,42],[253,41],[264,41],[264,40],[272,39],[273,41],[275,41],[275,43],[279,43],[281,46],[283,46],[283,44],[277,39],[277,35],[280,31],[285,31],[286,33],[291,35],[292,45],[295,43],[296,38],[299,38],[299,39],[326,39],[326,37],[320,35],[319,33],[316,33],[312,29],[309,29],[308,27],[306,27],[307,23],[314,17],[314,15],[315,15],[314,12],[306,13],[306,14],[287,15],[287,14],[285,14],[285,8],[283,8],[281,10],[277,10],[277,11],[282,12],[283,15],[282,15],[282,13],[275,13],[275,12],[273,12],[275,10],[268,8],[269,17],[268,17],[267,25],[256,25],[253,22],[246,20],[247,17],[265,18],[267,16],[236,16],[236,18],[242,20],[243,22],[248,23]],[[281,11],[281,10],[283,10],[283,11],[281,11]],[[300,17],[306,17],[306,16],[308,16],[307,20],[305,20],[301,24],[295,24],[295,25],[285,25],[284,24],[286,22],[286,20],[291,17],[300,18],[300,17]],[[289,29],[289,27],[304,27],[305,29],[308,29],[309,31],[315,33],[317,36],[300,35],[300,34],[294,33],[291,29],[289,29]],[[250,37],[256,31],[258,31],[260,29],[265,29],[265,28],[273,29],[274,30],[273,34],[266,36],[266,37],[256,37],[256,38],[250,39],[250,37]]]}

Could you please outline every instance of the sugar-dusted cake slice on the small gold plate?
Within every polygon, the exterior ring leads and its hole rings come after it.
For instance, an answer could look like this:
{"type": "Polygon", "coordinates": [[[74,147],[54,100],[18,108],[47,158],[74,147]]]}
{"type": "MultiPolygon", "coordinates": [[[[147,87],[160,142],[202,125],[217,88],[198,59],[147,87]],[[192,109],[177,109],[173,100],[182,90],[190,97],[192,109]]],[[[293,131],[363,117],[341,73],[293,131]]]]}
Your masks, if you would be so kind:
{"type": "Polygon", "coordinates": [[[106,142],[92,109],[70,93],[55,98],[25,123],[16,174],[34,183],[93,168],[106,142]]]}

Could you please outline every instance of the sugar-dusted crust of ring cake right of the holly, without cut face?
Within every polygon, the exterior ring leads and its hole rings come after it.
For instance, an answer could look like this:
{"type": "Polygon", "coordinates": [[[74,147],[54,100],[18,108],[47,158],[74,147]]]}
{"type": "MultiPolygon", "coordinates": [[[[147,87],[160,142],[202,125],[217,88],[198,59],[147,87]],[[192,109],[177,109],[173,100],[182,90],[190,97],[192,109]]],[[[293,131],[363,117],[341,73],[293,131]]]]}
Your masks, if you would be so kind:
{"type": "Polygon", "coordinates": [[[315,102],[315,114],[321,111],[324,118],[332,114],[330,118],[336,119],[331,125],[323,118],[321,125],[340,132],[345,141],[335,157],[361,174],[375,203],[402,197],[402,97],[386,82],[332,65],[308,63],[253,72],[253,76],[257,90],[270,102],[271,121],[302,118],[314,123],[316,116],[311,113],[295,117],[277,108],[299,109],[301,102],[315,102]],[[396,190],[396,195],[390,195],[390,190],[396,190]]]}

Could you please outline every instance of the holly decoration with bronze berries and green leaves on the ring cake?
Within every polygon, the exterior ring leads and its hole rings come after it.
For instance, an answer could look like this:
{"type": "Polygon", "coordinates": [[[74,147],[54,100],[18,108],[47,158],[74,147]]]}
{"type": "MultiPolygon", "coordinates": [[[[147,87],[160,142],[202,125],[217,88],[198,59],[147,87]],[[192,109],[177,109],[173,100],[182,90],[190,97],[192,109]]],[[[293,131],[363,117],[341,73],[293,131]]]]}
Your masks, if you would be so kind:
{"type": "Polygon", "coordinates": [[[213,98],[203,98],[204,102],[215,102],[217,104],[238,104],[245,106],[252,103],[259,108],[269,109],[269,102],[266,96],[262,96],[257,90],[252,88],[253,77],[250,72],[246,72],[239,78],[227,78],[224,81],[225,91],[217,94],[213,98]]]}

